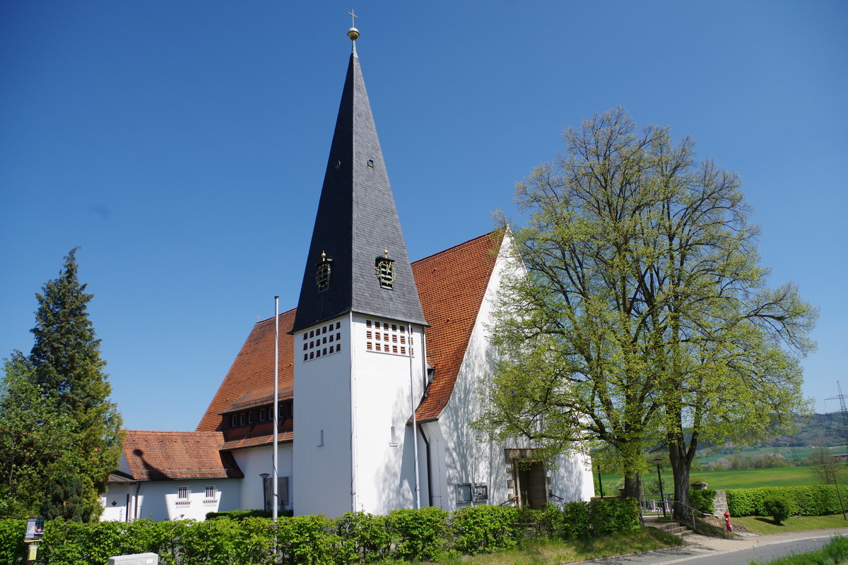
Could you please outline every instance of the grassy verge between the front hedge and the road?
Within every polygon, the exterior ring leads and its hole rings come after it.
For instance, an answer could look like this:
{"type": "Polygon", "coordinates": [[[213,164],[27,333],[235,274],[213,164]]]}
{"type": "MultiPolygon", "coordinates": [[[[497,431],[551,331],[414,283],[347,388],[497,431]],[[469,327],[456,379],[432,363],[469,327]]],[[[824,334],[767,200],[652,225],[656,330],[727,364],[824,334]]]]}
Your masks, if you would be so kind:
{"type": "Polygon", "coordinates": [[[593,540],[533,540],[522,550],[498,551],[486,555],[461,556],[439,562],[439,565],[557,565],[611,557],[639,551],[650,551],[683,544],[677,536],[653,528],[641,528],[619,535],[593,540]]]}

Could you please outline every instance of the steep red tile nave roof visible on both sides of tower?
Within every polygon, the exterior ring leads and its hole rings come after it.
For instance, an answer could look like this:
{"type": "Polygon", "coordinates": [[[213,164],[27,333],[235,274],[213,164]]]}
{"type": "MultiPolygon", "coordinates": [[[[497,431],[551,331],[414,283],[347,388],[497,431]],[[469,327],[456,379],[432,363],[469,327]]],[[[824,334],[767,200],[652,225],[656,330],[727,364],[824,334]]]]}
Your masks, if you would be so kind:
{"type": "MultiPolygon", "coordinates": [[[[434,378],[416,411],[420,421],[438,418],[454,390],[471,330],[483,302],[500,244],[498,235],[481,235],[412,263],[427,328],[427,361],[434,378]]],[[[292,398],[293,336],[288,335],[295,310],[280,314],[279,385],[281,400],[292,398]]],[[[200,431],[224,433],[224,449],[271,444],[271,423],[230,429],[221,414],[270,404],[273,400],[274,319],[257,322],[238,352],[198,424],[200,431]]],[[[295,401],[294,410],[297,410],[295,401]]],[[[281,425],[279,440],[291,441],[291,420],[281,425]]]]}

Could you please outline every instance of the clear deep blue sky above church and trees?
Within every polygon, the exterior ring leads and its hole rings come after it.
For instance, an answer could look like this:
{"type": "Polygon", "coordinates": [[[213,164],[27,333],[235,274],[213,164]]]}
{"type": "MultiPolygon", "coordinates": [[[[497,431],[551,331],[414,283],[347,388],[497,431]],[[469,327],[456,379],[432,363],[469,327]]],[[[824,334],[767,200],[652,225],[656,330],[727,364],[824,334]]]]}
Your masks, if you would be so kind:
{"type": "Polygon", "coordinates": [[[129,429],[194,429],[257,319],[294,307],[347,68],[413,260],[481,235],[561,132],[616,104],[744,180],[772,285],[821,308],[848,393],[848,3],[0,3],[0,357],[80,246],[129,429]]]}

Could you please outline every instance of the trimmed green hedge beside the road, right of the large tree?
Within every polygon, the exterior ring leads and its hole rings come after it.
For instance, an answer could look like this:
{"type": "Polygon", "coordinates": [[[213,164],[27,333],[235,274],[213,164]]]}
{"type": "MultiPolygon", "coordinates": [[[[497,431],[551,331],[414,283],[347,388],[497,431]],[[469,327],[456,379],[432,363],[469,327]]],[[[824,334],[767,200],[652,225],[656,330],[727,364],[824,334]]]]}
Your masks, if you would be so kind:
{"type": "MultiPolygon", "coordinates": [[[[848,490],[840,486],[842,501],[848,505],[848,490]]],[[[754,489],[727,490],[731,516],[769,516],[764,502],[771,496],[789,502],[793,516],[826,516],[842,512],[834,485],[763,486],[754,489]]]]}

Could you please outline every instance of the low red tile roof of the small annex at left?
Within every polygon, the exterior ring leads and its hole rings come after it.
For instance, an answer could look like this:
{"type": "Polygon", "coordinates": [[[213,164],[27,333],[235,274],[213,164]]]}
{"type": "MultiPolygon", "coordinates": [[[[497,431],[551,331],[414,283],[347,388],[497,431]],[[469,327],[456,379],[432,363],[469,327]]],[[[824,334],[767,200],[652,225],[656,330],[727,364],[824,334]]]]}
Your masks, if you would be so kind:
{"type": "Polygon", "coordinates": [[[126,432],[124,455],[135,480],[242,479],[220,432],[126,432]]]}

